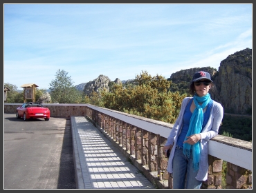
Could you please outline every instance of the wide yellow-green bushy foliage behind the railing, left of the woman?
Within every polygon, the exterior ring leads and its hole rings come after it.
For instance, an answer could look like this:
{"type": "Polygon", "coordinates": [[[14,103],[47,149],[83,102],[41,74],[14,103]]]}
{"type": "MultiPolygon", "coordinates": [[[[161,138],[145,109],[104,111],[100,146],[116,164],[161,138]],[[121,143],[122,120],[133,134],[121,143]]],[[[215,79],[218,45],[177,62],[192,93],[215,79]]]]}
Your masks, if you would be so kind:
{"type": "Polygon", "coordinates": [[[152,77],[147,71],[136,76],[134,85],[113,84],[111,92],[102,91],[102,105],[129,114],[174,123],[186,94],[170,92],[170,81],[161,75],[152,77]]]}

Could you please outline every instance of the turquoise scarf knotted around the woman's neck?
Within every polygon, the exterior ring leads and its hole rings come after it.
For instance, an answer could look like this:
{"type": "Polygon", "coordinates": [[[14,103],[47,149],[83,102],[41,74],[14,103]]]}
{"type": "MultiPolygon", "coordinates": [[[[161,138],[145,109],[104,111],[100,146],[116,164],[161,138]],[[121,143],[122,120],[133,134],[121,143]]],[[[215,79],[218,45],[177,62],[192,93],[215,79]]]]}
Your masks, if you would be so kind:
{"type": "MultiPolygon", "coordinates": [[[[196,108],[190,118],[190,126],[188,128],[188,133],[186,136],[190,136],[192,134],[199,134],[203,127],[203,109],[208,105],[210,102],[210,94],[205,94],[205,96],[198,96],[196,93],[194,94],[194,104],[196,108]],[[202,105],[199,105],[202,103],[202,105]]],[[[187,140],[187,137],[185,137],[187,140]]],[[[200,161],[200,144],[199,141],[194,143],[194,145],[190,145],[189,143],[183,144],[183,154],[185,156],[190,157],[190,150],[192,150],[193,155],[193,167],[194,172],[199,169],[199,161],[200,161]]]]}

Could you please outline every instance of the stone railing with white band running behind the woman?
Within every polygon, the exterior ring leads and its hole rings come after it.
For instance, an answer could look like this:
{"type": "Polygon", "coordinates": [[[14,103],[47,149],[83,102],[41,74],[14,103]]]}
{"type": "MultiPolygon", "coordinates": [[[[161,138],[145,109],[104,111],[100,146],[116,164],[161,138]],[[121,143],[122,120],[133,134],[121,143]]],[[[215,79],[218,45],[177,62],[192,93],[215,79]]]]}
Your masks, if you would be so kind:
{"type": "MultiPolygon", "coordinates": [[[[19,103],[5,103],[5,113],[15,113],[19,103]]],[[[166,171],[163,145],[172,124],[89,104],[44,103],[53,117],[85,116],[116,144],[127,158],[159,188],[172,188],[166,171]]],[[[217,135],[209,141],[208,180],[203,189],[251,189],[252,143],[217,135]],[[221,187],[223,161],[227,163],[226,187],[221,187]]]]}

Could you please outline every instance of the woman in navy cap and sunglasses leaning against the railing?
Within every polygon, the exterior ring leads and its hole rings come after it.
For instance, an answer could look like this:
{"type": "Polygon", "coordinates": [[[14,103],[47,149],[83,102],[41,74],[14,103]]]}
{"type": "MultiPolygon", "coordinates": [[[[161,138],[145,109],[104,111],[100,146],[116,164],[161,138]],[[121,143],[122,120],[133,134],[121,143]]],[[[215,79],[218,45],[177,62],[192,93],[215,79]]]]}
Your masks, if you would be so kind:
{"type": "Polygon", "coordinates": [[[174,127],[163,147],[170,150],[167,171],[174,189],[199,189],[208,178],[208,141],[219,132],[223,107],[208,93],[212,79],[208,72],[195,72],[174,127]],[[173,148],[174,147],[174,148],[173,148]]]}

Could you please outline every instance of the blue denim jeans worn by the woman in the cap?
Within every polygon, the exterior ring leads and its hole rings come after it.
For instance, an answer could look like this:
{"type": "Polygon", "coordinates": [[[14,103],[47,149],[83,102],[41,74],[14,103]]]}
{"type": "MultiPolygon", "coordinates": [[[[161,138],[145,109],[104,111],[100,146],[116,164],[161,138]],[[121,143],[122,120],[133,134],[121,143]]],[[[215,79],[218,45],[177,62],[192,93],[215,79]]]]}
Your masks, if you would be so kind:
{"type": "Polygon", "coordinates": [[[173,188],[174,189],[200,189],[202,181],[196,180],[196,174],[193,169],[192,153],[190,158],[183,154],[183,149],[178,145],[172,161],[173,167],[173,188]]]}

